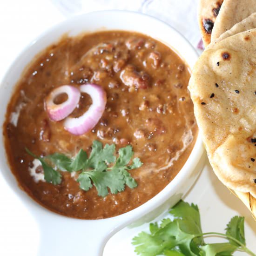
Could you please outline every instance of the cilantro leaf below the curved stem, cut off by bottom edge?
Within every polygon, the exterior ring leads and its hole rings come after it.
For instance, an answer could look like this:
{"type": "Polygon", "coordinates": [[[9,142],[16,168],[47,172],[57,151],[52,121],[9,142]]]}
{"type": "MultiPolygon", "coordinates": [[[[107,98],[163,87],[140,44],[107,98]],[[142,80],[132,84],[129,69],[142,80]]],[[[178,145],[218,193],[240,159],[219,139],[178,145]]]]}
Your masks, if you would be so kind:
{"type": "Polygon", "coordinates": [[[201,247],[206,256],[232,256],[232,253],[237,249],[236,245],[230,243],[211,243],[201,247]]]}

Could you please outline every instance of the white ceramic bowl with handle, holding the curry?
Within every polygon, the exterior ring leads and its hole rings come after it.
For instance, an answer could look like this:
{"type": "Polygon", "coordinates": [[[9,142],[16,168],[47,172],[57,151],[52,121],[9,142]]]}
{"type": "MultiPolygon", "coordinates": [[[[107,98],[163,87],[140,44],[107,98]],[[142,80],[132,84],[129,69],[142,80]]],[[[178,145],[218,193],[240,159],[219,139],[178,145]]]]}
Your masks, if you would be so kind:
{"type": "Polygon", "coordinates": [[[38,255],[40,256],[101,255],[103,246],[115,232],[132,222],[139,225],[151,221],[163,210],[178,202],[195,182],[201,170],[199,165],[204,150],[202,141],[198,137],[182,170],[158,195],[128,213],[103,220],[78,220],[55,214],[34,202],[19,189],[6,160],[2,137],[2,124],[14,85],[19,80],[24,67],[34,56],[57,41],[61,35],[68,33],[73,36],[82,32],[106,29],[137,31],[147,34],[173,48],[191,68],[198,58],[189,42],[175,29],[160,20],[133,12],[103,11],[75,16],[62,22],[34,40],[13,61],[0,86],[0,171],[6,182],[39,223],[40,248],[38,255]]]}

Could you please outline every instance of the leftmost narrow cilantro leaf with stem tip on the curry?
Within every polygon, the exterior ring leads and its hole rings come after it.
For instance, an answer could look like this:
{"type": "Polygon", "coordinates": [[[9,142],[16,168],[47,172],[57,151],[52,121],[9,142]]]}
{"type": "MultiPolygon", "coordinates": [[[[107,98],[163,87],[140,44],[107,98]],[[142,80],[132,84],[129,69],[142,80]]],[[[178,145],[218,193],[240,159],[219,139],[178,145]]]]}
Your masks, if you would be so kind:
{"type": "Polygon", "coordinates": [[[38,159],[41,162],[41,165],[44,170],[44,179],[48,183],[53,183],[54,185],[61,183],[61,174],[58,171],[55,171],[52,167],[50,167],[47,162],[44,161],[42,157],[34,155],[31,151],[25,148],[27,153],[33,156],[35,159],[38,159]]]}

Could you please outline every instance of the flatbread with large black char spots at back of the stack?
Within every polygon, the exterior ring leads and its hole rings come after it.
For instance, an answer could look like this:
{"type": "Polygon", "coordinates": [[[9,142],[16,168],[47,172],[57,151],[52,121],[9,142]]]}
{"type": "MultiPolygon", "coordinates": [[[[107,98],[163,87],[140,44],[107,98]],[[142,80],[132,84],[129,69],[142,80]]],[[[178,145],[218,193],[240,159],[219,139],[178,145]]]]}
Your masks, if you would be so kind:
{"type": "Polygon", "coordinates": [[[206,47],[211,41],[211,33],[223,0],[199,0],[198,22],[206,47]]]}

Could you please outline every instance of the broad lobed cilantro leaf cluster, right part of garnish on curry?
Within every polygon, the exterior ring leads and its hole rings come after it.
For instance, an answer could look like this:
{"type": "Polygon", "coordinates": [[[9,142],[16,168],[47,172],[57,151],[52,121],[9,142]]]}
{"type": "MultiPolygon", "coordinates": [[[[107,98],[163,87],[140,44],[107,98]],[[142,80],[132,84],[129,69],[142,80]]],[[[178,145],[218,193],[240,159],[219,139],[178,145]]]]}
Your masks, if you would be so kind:
{"type": "Polygon", "coordinates": [[[102,144],[99,141],[94,141],[91,155],[88,159],[85,168],[94,168],[91,171],[83,171],[79,175],[78,182],[80,182],[80,188],[88,190],[89,184],[94,183],[98,191],[98,195],[108,195],[108,189],[112,194],[116,194],[125,189],[125,185],[129,188],[134,189],[137,187],[137,182],[128,172],[129,169],[137,168],[142,163],[140,159],[135,158],[132,163],[132,168],[127,166],[130,162],[134,152],[131,146],[119,149],[119,157],[116,160],[115,144],[106,144],[102,148],[102,144]],[[115,162],[116,160],[116,162],[115,162]],[[115,162],[113,167],[107,166],[107,163],[115,162]],[[108,169],[108,170],[107,170],[108,169]],[[90,182],[88,181],[90,179],[90,182]]]}

